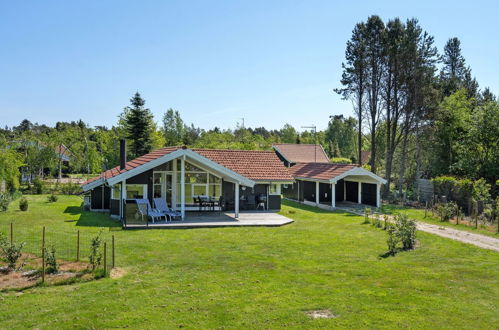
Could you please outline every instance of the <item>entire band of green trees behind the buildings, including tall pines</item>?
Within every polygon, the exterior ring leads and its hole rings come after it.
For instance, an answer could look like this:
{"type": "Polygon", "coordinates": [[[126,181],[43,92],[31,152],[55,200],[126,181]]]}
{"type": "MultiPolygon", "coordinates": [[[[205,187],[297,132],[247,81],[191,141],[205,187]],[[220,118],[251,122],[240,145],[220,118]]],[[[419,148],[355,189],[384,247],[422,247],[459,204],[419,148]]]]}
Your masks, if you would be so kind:
{"type": "Polygon", "coordinates": [[[275,143],[320,143],[334,161],[385,177],[385,196],[440,175],[483,177],[495,186],[499,104],[489,88],[479,88],[459,39],[450,38],[440,54],[417,19],[385,23],[371,16],[354,26],[342,69],[335,92],[352,102],[355,115],[324,118],[327,128],[315,134],[289,124],[205,130],[174,109],[157,122],[137,92],[110,128],[25,119],[0,130],[0,164],[9,164],[0,167],[0,179],[14,187],[21,165],[27,173],[57,175],[63,164],[54,150],[61,145],[70,152],[66,172],[99,173],[118,165],[118,141],[126,138],[129,159],[164,146],[269,150],[275,143]]]}

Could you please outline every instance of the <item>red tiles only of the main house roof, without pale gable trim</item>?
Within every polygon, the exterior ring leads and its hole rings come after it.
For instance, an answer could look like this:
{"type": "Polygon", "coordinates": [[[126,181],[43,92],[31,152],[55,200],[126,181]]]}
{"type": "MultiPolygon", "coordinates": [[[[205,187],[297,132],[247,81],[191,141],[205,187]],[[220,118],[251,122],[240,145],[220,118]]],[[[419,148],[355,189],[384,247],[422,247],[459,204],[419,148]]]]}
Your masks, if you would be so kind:
{"type": "MultiPolygon", "coordinates": [[[[89,179],[83,185],[101,178],[110,179],[178,149],[181,149],[181,147],[166,147],[154,150],[144,156],[127,162],[124,170],[120,170],[120,167],[117,166],[89,179]]],[[[288,169],[282,164],[273,151],[215,149],[191,150],[251,180],[293,180],[293,177],[289,173],[288,169]]]]}

